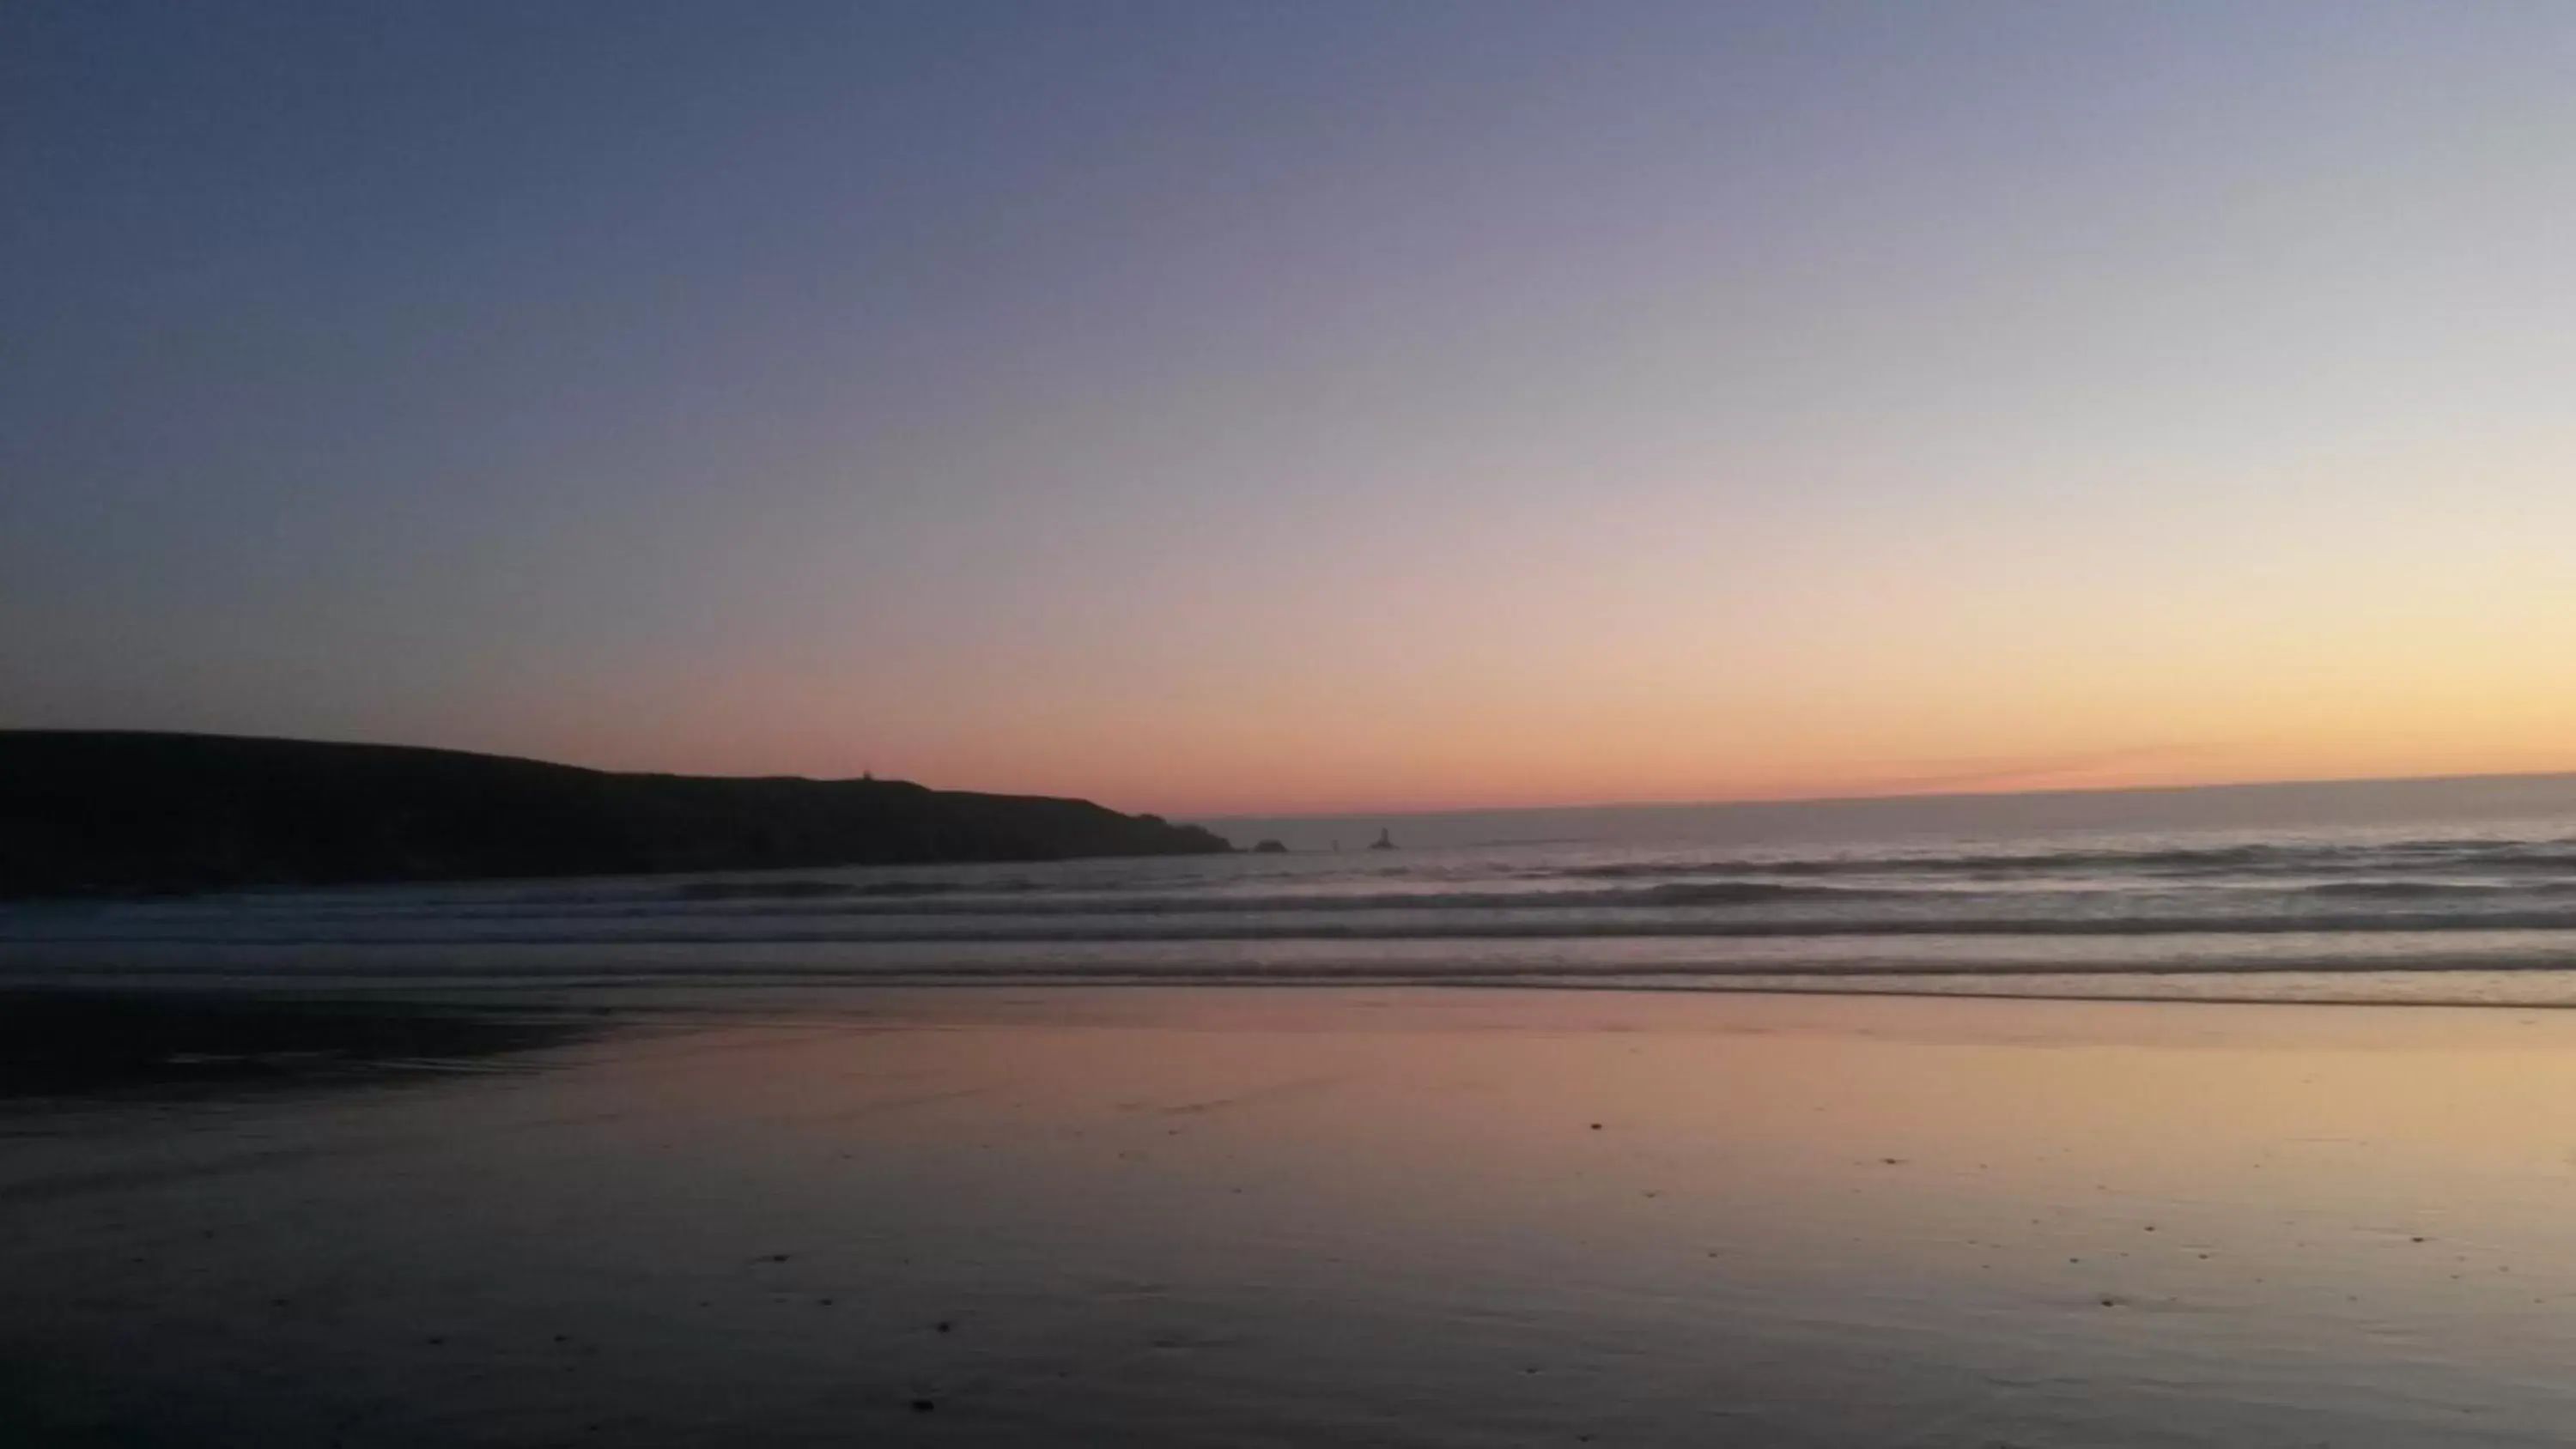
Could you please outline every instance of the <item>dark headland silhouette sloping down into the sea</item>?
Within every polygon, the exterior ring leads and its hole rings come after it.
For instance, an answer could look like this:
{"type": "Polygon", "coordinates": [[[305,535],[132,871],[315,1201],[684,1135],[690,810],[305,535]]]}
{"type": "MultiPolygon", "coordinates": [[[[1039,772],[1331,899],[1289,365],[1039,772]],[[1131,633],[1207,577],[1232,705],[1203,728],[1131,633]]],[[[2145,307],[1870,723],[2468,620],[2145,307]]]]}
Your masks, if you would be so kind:
{"type": "Polygon", "coordinates": [[[902,780],[611,775],[211,734],[0,731],[0,896],[1213,854],[1198,826],[902,780]]]}

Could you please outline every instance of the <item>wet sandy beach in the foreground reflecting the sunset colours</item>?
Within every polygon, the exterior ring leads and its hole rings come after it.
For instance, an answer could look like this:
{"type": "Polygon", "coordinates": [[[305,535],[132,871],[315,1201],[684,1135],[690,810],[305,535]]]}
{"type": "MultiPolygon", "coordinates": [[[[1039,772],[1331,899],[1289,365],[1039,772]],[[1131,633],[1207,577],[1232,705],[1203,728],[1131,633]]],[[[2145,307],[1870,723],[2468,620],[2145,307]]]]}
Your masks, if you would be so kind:
{"type": "Polygon", "coordinates": [[[603,1004],[0,999],[0,1441],[2576,1431],[2576,1014],[603,1004]]]}

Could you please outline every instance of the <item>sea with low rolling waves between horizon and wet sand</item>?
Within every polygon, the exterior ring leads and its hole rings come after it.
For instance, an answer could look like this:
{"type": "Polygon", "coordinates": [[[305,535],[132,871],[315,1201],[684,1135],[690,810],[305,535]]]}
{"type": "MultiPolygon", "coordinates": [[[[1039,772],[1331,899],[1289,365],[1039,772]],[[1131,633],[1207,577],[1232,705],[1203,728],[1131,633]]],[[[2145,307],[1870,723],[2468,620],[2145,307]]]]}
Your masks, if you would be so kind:
{"type": "Polygon", "coordinates": [[[2576,1004],[2576,777],[1208,824],[1291,849],[18,903],[0,975],[2576,1004]]]}

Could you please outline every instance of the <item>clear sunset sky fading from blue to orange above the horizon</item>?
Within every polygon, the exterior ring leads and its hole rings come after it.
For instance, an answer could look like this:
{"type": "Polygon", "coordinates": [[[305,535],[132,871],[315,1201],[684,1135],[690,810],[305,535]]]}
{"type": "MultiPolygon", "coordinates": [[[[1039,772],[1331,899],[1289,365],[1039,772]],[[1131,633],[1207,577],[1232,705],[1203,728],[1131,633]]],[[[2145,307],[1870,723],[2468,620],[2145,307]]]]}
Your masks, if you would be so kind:
{"type": "Polygon", "coordinates": [[[0,8],[0,726],[2576,770],[2576,5],[0,8]]]}

